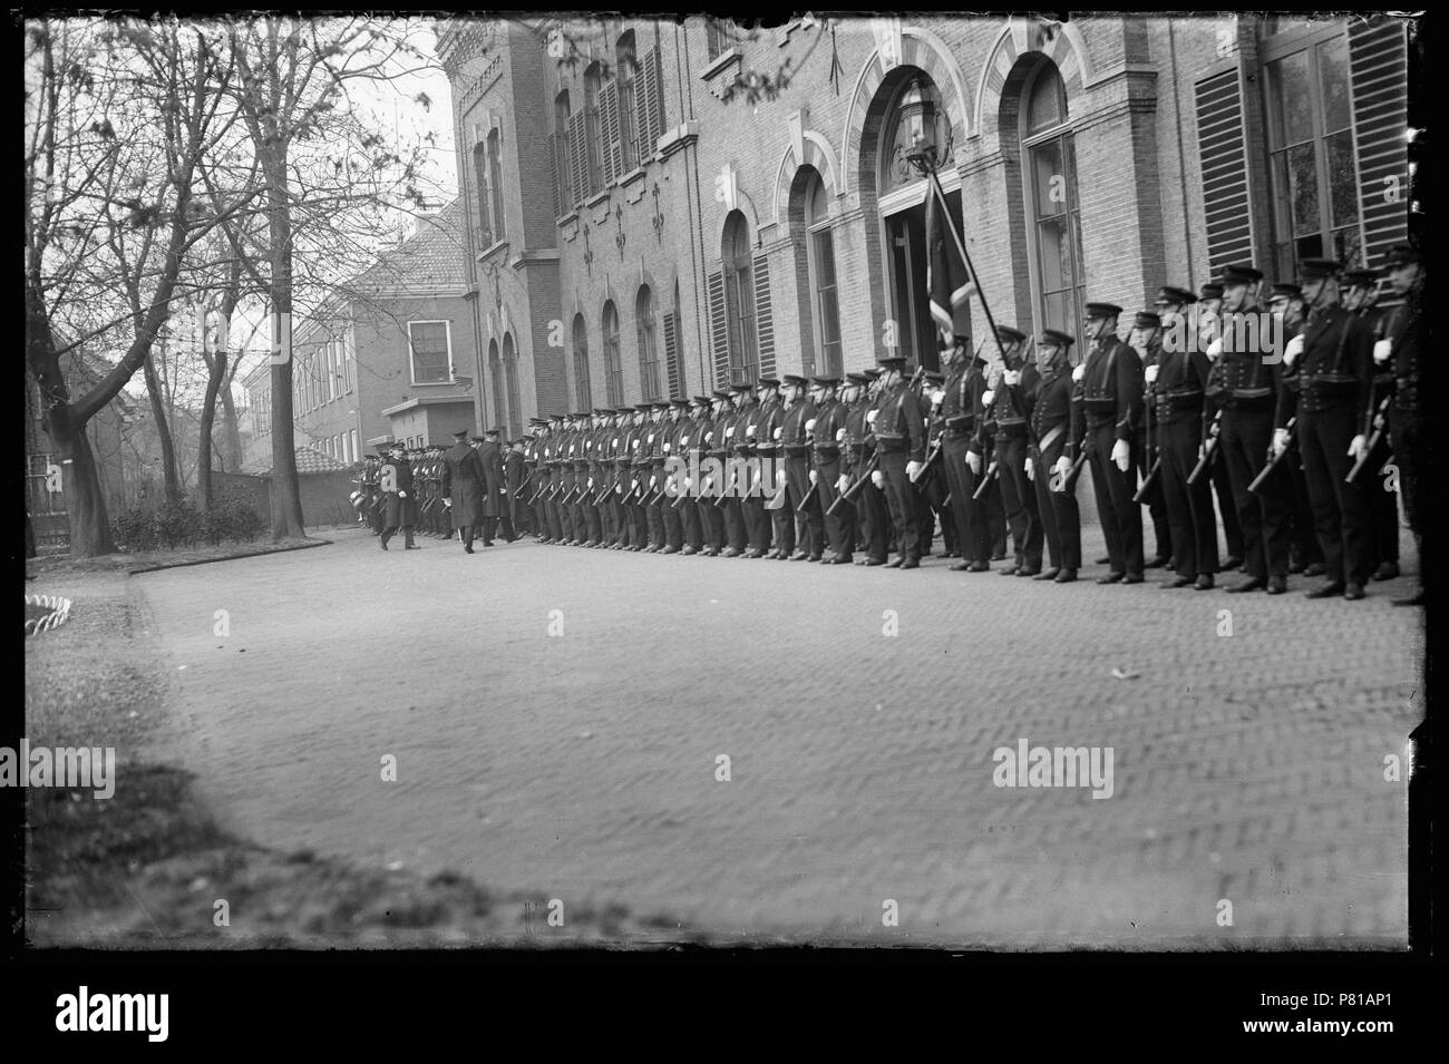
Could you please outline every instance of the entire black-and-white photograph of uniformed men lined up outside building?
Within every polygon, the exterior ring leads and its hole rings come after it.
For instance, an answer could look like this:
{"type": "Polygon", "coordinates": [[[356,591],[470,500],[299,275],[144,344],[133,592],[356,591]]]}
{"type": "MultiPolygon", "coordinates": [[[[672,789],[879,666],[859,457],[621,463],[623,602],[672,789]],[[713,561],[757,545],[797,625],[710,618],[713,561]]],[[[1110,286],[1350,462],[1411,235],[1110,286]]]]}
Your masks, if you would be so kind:
{"type": "Polygon", "coordinates": [[[12,960],[1427,948],[1421,12],[12,33],[12,960]]]}

